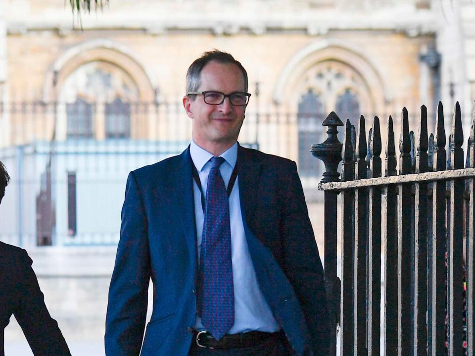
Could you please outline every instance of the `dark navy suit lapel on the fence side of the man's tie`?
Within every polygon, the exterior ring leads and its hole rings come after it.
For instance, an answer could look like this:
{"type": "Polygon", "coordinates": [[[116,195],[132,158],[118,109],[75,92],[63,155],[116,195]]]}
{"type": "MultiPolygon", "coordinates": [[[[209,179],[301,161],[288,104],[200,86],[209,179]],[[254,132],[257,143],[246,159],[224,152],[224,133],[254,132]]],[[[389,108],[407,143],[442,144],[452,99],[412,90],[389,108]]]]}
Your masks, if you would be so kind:
{"type": "Polygon", "coordinates": [[[261,177],[262,163],[249,154],[246,149],[238,146],[237,164],[241,209],[244,210],[243,216],[245,216],[246,221],[250,222],[256,208],[257,188],[261,177]]]}

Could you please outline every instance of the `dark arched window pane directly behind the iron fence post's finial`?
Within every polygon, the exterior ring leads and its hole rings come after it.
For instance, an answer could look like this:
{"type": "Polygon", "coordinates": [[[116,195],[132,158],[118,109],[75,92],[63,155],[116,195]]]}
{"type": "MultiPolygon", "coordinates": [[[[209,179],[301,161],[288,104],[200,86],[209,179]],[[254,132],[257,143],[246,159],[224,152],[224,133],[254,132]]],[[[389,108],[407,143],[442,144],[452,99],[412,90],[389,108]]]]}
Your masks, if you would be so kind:
{"type": "Polygon", "coordinates": [[[324,108],[320,95],[308,89],[298,103],[298,169],[303,177],[315,177],[322,174],[320,161],[310,153],[310,147],[320,143],[321,125],[324,119],[324,108]]]}

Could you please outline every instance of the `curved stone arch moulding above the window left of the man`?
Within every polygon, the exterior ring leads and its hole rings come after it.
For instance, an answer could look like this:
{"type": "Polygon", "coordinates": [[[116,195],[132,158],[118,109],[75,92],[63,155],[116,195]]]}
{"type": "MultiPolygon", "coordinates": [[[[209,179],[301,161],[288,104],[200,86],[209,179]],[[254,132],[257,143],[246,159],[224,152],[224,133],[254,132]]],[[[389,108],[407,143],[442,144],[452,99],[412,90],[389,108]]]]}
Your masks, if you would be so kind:
{"type": "Polygon", "coordinates": [[[158,88],[153,74],[127,47],[107,39],[88,41],[62,53],[49,68],[43,87],[43,101],[58,98],[64,80],[80,66],[94,61],[109,62],[124,70],[139,89],[139,100],[155,100],[158,88]]]}

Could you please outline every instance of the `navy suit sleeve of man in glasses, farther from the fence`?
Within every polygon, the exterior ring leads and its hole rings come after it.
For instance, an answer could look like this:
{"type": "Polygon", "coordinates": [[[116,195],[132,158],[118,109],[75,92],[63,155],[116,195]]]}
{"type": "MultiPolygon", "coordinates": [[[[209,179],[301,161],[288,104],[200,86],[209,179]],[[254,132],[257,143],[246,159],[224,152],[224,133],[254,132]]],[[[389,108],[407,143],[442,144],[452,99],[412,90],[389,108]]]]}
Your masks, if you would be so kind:
{"type": "Polygon", "coordinates": [[[122,207],[120,240],[109,287],[105,325],[108,356],[139,356],[147,311],[150,254],[147,217],[134,172],[122,207]]]}

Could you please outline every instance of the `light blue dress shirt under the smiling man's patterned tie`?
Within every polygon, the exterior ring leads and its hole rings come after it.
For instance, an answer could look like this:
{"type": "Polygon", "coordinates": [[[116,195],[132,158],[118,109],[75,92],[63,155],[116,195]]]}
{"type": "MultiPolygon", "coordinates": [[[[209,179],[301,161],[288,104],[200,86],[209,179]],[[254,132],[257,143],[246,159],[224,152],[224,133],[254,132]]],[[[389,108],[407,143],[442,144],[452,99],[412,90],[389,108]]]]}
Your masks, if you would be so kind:
{"type": "MultiPolygon", "coordinates": [[[[191,159],[198,171],[201,189],[206,198],[206,185],[211,168],[209,160],[213,154],[203,150],[191,141],[191,159]]],[[[238,144],[234,144],[229,150],[220,155],[226,161],[221,164],[219,170],[224,184],[228,187],[231,174],[238,160],[238,144]]],[[[196,217],[196,235],[198,237],[198,262],[201,251],[201,236],[203,233],[204,214],[201,207],[201,192],[193,180],[194,214],[196,217]]],[[[275,332],[280,326],[275,319],[271,308],[262,294],[257,282],[256,272],[252,264],[249,249],[247,247],[244,225],[242,223],[241,207],[239,203],[239,177],[229,196],[229,214],[231,223],[231,252],[233,262],[234,283],[234,326],[228,334],[237,334],[248,331],[275,332]]],[[[203,330],[201,318],[196,317],[196,330],[203,330]]]]}

